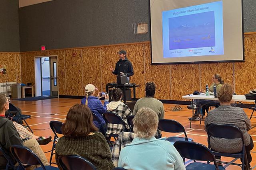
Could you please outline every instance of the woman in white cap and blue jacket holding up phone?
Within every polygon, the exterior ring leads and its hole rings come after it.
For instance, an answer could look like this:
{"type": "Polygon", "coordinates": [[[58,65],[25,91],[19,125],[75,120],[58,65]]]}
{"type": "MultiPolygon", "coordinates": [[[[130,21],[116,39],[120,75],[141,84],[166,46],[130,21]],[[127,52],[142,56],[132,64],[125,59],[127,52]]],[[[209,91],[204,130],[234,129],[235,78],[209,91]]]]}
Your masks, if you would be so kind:
{"type": "Polygon", "coordinates": [[[101,129],[100,127],[102,127],[106,131],[106,122],[104,121],[102,114],[107,111],[106,104],[108,104],[108,94],[103,96],[105,97],[104,106],[103,106],[102,102],[99,100],[101,92],[98,92],[97,97],[94,96],[95,90],[98,90],[98,89],[93,84],[87,84],[84,90],[86,93],[86,98],[83,98],[81,100],[81,104],[88,106],[92,111],[92,113],[94,113],[100,120],[100,123],[98,123],[98,121],[93,121],[96,127],[98,127],[99,129],[101,129]]]}

